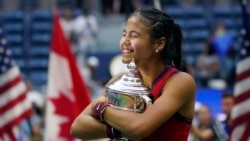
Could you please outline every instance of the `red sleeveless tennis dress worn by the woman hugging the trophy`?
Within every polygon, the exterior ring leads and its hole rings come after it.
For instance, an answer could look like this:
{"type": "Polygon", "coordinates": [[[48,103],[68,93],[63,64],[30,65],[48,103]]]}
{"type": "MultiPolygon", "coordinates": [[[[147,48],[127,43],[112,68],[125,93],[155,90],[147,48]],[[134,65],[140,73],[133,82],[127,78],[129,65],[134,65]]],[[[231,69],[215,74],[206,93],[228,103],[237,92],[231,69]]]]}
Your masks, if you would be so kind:
{"type": "MultiPolygon", "coordinates": [[[[167,67],[159,75],[159,77],[154,81],[152,87],[154,99],[160,97],[162,88],[168,78],[177,72],[177,69],[173,67],[167,67]]],[[[142,139],[141,141],[187,141],[191,124],[191,119],[187,119],[179,113],[176,113],[162,126],[156,129],[151,135],[142,139]]]]}

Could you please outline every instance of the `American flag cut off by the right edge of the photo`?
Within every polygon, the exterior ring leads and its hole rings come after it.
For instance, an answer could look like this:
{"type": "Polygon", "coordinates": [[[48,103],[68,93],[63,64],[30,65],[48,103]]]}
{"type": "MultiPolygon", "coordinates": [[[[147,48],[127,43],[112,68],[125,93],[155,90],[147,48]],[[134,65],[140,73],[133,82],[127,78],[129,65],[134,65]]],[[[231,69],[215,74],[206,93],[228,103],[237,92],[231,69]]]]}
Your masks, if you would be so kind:
{"type": "Polygon", "coordinates": [[[250,141],[250,18],[247,13],[247,0],[241,0],[241,8],[243,40],[236,65],[235,105],[231,115],[232,141],[250,141]]]}

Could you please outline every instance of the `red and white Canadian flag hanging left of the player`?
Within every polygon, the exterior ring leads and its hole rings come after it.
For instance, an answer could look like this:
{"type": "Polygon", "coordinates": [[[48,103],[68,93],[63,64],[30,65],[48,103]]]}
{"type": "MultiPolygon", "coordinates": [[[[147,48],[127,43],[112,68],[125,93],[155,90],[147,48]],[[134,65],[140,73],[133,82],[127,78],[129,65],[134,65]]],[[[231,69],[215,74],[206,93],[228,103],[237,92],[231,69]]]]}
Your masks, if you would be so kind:
{"type": "Polygon", "coordinates": [[[55,11],[49,58],[45,141],[72,141],[70,126],[90,103],[70,44],[64,37],[55,11]]]}

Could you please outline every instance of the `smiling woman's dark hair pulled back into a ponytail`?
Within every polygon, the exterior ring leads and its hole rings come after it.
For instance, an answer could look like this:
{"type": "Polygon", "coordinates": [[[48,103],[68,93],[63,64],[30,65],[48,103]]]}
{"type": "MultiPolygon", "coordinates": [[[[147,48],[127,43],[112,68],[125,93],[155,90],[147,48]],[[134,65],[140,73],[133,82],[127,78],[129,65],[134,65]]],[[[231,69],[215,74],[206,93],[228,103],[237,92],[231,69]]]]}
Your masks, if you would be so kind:
{"type": "Polygon", "coordinates": [[[138,16],[141,22],[149,27],[149,34],[153,42],[161,37],[166,38],[161,58],[164,64],[173,65],[179,69],[182,60],[182,33],[180,26],[174,23],[171,16],[152,7],[140,8],[131,16],[138,16]]]}

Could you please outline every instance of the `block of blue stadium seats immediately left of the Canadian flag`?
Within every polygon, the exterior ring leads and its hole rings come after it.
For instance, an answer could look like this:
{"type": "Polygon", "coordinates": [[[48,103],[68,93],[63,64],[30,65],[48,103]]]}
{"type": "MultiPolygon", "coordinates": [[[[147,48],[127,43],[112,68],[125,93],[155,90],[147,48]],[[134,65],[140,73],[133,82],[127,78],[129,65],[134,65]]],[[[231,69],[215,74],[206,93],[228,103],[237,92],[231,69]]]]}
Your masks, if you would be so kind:
{"type": "Polygon", "coordinates": [[[40,88],[47,83],[52,21],[52,10],[36,10],[30,16],[29,79],[40,88]]]}

